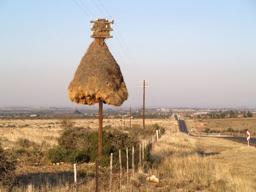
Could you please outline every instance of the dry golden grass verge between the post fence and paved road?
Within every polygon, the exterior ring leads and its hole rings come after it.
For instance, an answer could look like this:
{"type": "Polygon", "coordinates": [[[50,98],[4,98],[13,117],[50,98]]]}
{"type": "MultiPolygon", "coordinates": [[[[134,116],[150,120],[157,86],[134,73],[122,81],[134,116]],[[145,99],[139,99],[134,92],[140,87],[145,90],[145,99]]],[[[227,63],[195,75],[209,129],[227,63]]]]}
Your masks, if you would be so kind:
{"type": "Polygon", "coordinates": [[[228,140],[167,131],[152,153],[158,163],[149,173],[168,191],[255,191],[255,153],[228,140]]]}

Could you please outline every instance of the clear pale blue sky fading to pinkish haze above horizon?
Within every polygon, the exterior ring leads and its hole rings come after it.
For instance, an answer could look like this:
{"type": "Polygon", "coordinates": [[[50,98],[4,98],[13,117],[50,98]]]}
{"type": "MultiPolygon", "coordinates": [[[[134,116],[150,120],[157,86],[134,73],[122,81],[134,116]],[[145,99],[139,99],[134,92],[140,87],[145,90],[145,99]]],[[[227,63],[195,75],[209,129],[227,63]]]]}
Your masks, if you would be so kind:
{"type": "MultiPolygon", "coordinates": [[[[0,106],[69,106],[90,17],[114,18],[107,45],[122,107],[256,107],[255,0],[0,0],[0,106]]],[[[96,106],[95,106],[96,107],[96,106]]]]}

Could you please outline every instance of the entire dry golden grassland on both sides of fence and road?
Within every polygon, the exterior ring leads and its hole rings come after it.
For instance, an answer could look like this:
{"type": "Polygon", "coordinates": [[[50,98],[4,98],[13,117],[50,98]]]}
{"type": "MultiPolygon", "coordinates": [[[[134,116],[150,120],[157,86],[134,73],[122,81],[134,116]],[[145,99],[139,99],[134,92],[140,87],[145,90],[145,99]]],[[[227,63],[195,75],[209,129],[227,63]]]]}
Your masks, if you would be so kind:
{"type": "MultiPolygon", "coordinates": [[[[219,125],[217,123],[222,123],[224,128],[224,125],[229,126],[230,121],[236,122],[236,119],[228,119],[229,123],[227,120],[220,120],[219,122],[207,120],[200,123],[205,123],[206,126],[208,124],[217,126],[219,125]]],[[[74,121],[75,126],[97,129],[97,119],[74,121]]],[[[120,119],[103,121],[103,126],[120,126],[121,129],[120,119]]],[[[166,127],[166,132],[151,152],[151,165],[145,165],[144,169],[137,171],[135,178],[129,177],[128,183],[124,174],[123,191],[256,191],[256,170],[254,169],[256,148],[248,148],[247,145],[220,138],[190,137],[177,131],[177,121],[173,119],[146,120],[146,124],[155,123],[166,127]],[[147,177],[153,174],[160,179],[159,183],[146,181],[147,177]]],[[[186,123],[189,128],[196,128],[194,121],[186,123]]],[[[246,122],[243,123],[246,124],[246,122]]],[[[253,122],[247,123],[253,125],[253,122]]],[[[124,122],[122,126],[123,124],[124,122]]],[[[142,125],[142,119],[133,119],[132,124],[142,125]]],[[[22,138],[34,141],[47,150],[57,144],[56,138],[61,133],[59,120],[53,119],[25,121],[2,119],[0,126],[3,148],[15,149],[17,140],[22,138]]],[[[129,121],[126,121],[127,126],[129,121]]],[[[95,180],[90,179],[90,176],[95,174],[95,165],[79,164],[77,170],[78,181],[85,182],[79,186],[79,191],[95,191],[95,180]],[[83,172],[86,172],[87,177],[83,177],[83,172]]],[[[109,167],[101,168],[101,172],[105,174],[99,180],[99,191],[109,191],[109,174],[106,171],[109,171],[109,167]]],[[[67,191],[73,184],[73,165],[58,166],[50,162],[42,165],[24,165],[19,162],[16,175],[21,185],[15,187],[13,191],[26,191],[29,183],[34,185],[34,191],[67,191]]],[[[119,191],[117,173],[113,178],[113,191],[119,191]]]]}

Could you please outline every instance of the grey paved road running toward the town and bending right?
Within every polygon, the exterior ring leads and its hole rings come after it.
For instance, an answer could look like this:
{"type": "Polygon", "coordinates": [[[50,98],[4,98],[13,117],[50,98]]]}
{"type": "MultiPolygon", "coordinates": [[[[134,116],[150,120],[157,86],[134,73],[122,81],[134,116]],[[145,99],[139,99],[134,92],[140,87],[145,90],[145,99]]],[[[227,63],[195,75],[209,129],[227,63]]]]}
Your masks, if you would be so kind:
{"type": "MultiPolygon", "coordinates": [[[[175,120],[178,121],[179,124],[179,129],[181,132],[188,134],[188,129],[186,126],[186,123],[184,122],[184,120],[182,119],[178,119],[177,115],[174,115],[175,120]]],[[[190,136],[194,136],[194,137],[210,137],[210,136],[195,136],[195,135],[191,135],[190,136]]],[[[244,144],[248,144],[247,138],[246,137],[218,137],[218,138],[223,138],[223,139],[229,139],[229,140],[233,140],[235,142],[239,142],[239,143],[244,143],[244,144]]],[[[249,141],[249,145],[255,146],[256,147],[256,138],[252,137],[250,138],[249,141]]]]}

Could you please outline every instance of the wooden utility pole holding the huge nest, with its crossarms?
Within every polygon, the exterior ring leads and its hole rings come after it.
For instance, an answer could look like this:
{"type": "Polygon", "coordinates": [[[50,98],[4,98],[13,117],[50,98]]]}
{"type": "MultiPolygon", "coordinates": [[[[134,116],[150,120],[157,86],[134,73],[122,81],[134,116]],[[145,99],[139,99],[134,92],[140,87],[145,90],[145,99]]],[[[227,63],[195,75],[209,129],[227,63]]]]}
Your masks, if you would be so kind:
{"type": "MultiPolygon", "coordinates": [[[[92,33],[91,37],[98,39],[98,43],[103,46],[103,42],[105,38],[113,38],[113,36],[110,36],[110,31],[112,31],[112,25],[114,23],[114,19],[112,18],[112,21],[108,21],[108,19],[98,19],[96,18],[96,21],[93,21],[93,19],[90,19],[90,23],[94,23],[92,25],[91,30],[94,32],[92,33]]],[[[98,148],[98,158],[100,159],[102,157],[102,122],[103,122],[103,116],[102,116],[102,101],[99,102],[99,148],[98,148]]]]}

